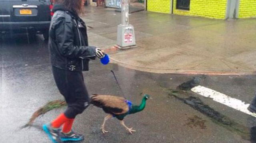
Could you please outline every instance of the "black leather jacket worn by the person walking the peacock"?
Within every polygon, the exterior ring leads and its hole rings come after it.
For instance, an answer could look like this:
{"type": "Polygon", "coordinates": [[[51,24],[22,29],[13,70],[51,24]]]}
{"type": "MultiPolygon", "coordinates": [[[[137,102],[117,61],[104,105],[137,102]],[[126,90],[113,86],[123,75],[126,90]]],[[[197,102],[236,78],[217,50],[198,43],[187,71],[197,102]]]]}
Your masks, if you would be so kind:
{"type": "Polygon", "coordinates": [[[52,66],[69,71],[88,71],[90,59],[95,59],[94,46],[88,46],[86,25],[75,12],[61,4],[54,5],[49,31],[52,66]]]}

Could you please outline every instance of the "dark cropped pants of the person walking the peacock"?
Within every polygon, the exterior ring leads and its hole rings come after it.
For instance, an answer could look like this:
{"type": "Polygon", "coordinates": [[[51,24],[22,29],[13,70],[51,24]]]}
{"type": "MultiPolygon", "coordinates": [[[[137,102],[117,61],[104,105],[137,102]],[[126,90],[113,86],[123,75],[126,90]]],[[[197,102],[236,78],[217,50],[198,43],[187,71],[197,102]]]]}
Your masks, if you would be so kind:
{"type": "Polygon", "coordinates": [[[52,66],[52,71],[57,87],[68,104],[64,114],[74,119],[90,103],[82,71],[66,71],[54,66],[52,66]]]}

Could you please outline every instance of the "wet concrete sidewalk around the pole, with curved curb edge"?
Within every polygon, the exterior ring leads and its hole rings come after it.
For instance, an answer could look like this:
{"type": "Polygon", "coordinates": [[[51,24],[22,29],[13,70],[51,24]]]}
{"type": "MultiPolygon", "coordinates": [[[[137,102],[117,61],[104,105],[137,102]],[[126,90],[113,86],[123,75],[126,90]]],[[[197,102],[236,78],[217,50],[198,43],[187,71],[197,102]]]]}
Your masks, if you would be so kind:
{"type": "Polygon", "coordinates": [[[86,7],[83,16],[90,45],[103,48],[112,62],[154,73],[254,74],[256,19],[214,20],[199,17],[136,12],[130,15],[137,48],[119,50],[116,44],[120,12],[86,7]]]}

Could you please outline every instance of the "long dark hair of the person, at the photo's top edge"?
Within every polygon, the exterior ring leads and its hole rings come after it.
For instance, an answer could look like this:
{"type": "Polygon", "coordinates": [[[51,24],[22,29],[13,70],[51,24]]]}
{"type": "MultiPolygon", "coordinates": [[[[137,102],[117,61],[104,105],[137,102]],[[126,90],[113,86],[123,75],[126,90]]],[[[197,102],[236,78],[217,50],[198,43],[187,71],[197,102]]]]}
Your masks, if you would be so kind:
{"type": "Polygon", "coordinates": [[[55,4],[63,4],[66,9],[77,12],[81,14],[83,8],[81,6],[82,0],[55,0],[55,4]]]}

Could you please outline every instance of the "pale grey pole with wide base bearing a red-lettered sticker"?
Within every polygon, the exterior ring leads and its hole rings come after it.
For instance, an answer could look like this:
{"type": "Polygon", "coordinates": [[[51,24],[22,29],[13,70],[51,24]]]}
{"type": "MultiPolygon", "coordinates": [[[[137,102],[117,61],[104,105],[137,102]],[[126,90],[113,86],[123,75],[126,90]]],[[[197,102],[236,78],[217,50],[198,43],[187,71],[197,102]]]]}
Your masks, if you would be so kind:
{"type": "Polygon", "coordinates": [[[129,0],[122,0],[122,23],[117,28],[117,47],[128,49],[136,46],[134,28],[129,24],[129,0]]]}

